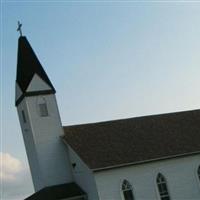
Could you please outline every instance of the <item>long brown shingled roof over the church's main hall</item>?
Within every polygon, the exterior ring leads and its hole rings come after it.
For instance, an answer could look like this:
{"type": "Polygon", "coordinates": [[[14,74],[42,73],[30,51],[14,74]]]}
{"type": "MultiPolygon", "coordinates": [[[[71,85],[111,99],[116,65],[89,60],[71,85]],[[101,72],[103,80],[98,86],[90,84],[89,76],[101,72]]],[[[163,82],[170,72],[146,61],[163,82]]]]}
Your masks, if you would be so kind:
{"type": "Polygon", "coordinates": [[[65,126],[64,140],[93,170],[200,153],[200,110],[65,126]]]}

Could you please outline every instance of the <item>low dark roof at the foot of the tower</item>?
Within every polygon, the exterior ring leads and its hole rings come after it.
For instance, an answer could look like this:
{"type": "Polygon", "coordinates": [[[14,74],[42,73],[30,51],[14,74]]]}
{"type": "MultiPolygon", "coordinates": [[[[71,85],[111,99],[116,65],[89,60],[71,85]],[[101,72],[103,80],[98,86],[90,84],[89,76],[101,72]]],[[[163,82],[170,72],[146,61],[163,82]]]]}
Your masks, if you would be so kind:
{"type": "Polygon", "coordinates": [[[46,187],[25,200],[59,200],[72,197],[76,200],[83,200],[85,196],[85,192],[76,183],[67,183],[46,187]]]}

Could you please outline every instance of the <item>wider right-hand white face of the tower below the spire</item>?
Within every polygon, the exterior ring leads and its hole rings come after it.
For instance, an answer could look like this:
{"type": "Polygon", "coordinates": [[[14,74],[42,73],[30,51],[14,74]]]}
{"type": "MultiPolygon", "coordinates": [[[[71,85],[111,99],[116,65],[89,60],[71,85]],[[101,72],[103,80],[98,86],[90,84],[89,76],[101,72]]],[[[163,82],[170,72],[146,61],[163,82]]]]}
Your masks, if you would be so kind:
{"type": "MultiPolygon", "coordinates": [[[[36,153],[34,155],[31,153],[29,156],[37,157],[39,165],[36,173],[43,182],[42,187],[37,183],[34,184],[36,191],[46,186],[73,181],[68,149],[60,139],[63,129],[55,95],[26,97],[26,104],[36,149],[36,153]],[[46,117],[41,117],[39,114],[40,98],[45,98],[47,104],[48,116],[46,117]]],[[[34,173],[33,176],[36,174],[34,173]]]]}

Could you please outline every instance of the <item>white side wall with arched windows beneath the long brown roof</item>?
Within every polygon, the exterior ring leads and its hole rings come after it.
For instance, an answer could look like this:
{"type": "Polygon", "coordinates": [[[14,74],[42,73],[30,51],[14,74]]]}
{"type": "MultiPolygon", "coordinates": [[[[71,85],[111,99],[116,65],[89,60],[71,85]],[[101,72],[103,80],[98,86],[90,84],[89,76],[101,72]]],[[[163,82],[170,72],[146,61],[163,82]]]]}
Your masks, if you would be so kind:
{"type": "Polygon", "coordinates": [[[99,199],[123,200],[121,184],[127,179],[132,184],[136,200],[159,200],[156,184],[159,172],[167,180],[171,199],[200,199],[199,165],[200,155],[194,155],[95,172],[99,199]]]}

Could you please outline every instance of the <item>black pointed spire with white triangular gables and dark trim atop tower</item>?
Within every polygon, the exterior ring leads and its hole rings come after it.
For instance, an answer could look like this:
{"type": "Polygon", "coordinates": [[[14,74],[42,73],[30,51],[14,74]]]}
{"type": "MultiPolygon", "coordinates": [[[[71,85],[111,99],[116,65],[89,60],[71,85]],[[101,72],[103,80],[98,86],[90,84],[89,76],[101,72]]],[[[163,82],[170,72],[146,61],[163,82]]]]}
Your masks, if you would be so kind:
{"type": "Polygon", "coordinates": [[[25,96],[56,92],[25,36],[20,36],[18,40],[16,84],[16,105],[25,96]],[[32,82],[37,86],[31,86],[32,82]]]}

